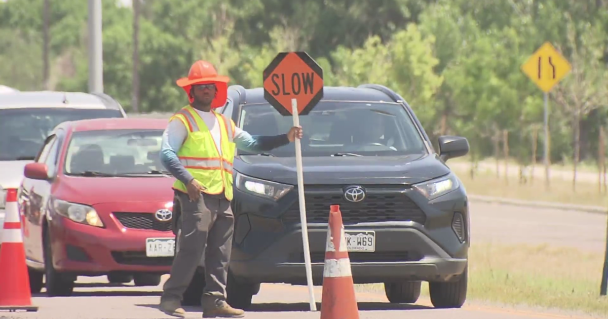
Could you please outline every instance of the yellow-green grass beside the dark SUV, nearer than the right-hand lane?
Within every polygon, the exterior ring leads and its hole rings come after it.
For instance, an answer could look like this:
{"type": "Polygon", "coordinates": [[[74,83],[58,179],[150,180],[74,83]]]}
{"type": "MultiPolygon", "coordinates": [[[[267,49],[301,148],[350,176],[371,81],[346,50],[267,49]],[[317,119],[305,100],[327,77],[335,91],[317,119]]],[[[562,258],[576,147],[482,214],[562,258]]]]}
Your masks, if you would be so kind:
{"type": "MultiPolygon", "coordinates": [[[[469,250],[468,300],[608,318],[608,297],[599,295],[603,260],[603,254],[547,245],[476,243],[469,250]]],[[[382,284],[357,286],[384,293],[382,284]]],[[[422,295],[428,296],[426,283],[422,295]]]]}

